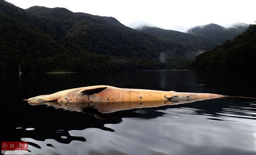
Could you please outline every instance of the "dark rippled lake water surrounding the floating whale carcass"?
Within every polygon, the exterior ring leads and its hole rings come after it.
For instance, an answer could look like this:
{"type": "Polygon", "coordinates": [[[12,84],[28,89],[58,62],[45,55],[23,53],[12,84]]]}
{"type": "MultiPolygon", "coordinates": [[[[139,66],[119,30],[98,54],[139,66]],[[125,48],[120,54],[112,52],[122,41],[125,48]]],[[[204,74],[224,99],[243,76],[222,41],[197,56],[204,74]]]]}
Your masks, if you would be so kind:
{"type": "Polygon", "coordinates": [[[29,155],[255,155],[256,99],[224,97],[92,107],[30,105],[22,99],[91,85],[256,97],[252,72],[154,71],[0,76],[1,141],[28,141],[29,155]]]}

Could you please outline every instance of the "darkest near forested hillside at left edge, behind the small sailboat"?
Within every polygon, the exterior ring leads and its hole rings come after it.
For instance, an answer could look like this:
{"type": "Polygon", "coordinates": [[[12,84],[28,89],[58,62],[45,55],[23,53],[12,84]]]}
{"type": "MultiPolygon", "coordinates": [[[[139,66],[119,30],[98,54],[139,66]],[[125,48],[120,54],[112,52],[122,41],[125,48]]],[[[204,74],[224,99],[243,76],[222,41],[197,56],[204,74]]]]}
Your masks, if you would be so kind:
{"type": "Polygon", "coordinates": [[[0,72],[37,72],[64,68],[68,50],[54,38],[58,33],[40,18],[0,0],[0,72]],[[48,64],[48,65],[45,65],[48,64]]]}

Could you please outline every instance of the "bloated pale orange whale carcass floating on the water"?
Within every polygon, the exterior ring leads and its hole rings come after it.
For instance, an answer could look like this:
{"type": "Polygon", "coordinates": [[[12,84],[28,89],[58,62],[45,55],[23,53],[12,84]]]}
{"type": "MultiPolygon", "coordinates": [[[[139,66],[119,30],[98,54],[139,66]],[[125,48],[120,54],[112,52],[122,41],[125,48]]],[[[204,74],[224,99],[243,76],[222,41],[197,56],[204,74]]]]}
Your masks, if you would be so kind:
{"type": "Polygon", "coordinates": [[[108,85],[96,85],[58,91],[49,95],[40,95],[26,99],[30,104],[58,103],[92,103],[125,101],[178,101],[204,100],[224,97],[213,93],[180,93],[176,91],[158,91],[147,89],[126,89],[108,85]]]}

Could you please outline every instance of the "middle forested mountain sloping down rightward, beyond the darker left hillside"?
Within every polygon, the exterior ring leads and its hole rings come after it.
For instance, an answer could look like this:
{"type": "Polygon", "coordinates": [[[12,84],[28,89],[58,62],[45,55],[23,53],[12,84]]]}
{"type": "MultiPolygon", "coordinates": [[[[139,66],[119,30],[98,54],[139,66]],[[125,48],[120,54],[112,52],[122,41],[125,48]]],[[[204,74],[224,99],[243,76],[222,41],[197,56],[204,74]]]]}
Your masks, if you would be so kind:
{"type": "Polygon", "coordinates": [[[176,41],[175,38],[166,42],[151,34],[128,28],[112,17],[73,13],[64,8],[51,9],[39,6],[31,7],[26,11],[50,21],[48,23],[52,28],[62,32],[60,42],[66,48],[76,52],[86,50],[96,54],[154,61],[164,59],[162,62],[167,63],[166,66],[169,68],[178,67],[183,63],[175,64],[175,61],[190,60],[187,56],[195,51],[198,52],[198,48],[194,50],[192,46],[176,41]],[[70,44],[73,42],[76,44],[70,44]]]}

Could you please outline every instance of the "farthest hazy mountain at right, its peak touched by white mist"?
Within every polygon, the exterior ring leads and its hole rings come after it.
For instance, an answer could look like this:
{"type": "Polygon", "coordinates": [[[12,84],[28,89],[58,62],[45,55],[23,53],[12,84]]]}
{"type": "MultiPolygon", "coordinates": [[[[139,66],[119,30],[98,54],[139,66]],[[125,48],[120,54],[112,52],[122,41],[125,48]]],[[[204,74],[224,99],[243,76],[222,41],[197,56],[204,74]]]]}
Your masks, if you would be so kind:
{"type": "Polygon", "coordinates": [[[216,45],[221,45],[227,40],[234,39],[238,34],[242,34],[248,26],[248,24],[240,23],[226,28],[217,24],[208,24],[196,26],[188,30],[188,33],[204,36],[214,41],[216,45]]]}

